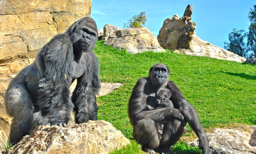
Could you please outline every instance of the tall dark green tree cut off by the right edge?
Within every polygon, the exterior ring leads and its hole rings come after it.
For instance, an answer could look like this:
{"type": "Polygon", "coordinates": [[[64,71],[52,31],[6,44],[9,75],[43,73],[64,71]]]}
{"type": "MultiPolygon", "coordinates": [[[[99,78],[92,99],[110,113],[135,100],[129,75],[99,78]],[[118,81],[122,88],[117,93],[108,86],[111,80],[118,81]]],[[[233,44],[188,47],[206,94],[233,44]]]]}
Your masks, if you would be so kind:
{"type": "Polygon", "coordinates": [[[251,24],[249,26],[249,31],[247,35],[247,48],[250,51],[253,51],[256,58],[256,5],[253,6],[254,9],[251,9],[248,15],[248,19],[251,24]]]}

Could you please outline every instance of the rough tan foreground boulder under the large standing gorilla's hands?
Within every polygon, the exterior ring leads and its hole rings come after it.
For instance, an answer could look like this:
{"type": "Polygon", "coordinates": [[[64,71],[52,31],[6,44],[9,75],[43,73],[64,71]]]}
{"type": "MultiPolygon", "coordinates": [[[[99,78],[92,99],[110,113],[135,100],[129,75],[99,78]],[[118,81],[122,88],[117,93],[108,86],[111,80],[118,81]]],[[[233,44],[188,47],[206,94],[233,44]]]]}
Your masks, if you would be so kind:
{"type": "Polygon", "coordinates": [[[88,123],[76,124],[72,128],[39,126],[4,154],[104,154],[127,144],[130,144],[130,141],[111,123],[89,120],[88,123]]]}

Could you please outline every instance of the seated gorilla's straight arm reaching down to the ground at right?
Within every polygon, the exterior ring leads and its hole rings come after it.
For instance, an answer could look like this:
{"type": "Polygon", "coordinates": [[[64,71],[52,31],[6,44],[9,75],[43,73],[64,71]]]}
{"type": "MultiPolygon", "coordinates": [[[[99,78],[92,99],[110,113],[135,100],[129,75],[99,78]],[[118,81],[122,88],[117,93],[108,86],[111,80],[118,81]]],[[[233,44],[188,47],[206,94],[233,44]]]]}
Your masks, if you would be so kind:
{"type": "Polygon", "coordinates": [[[195,108],[182,96],[181,91],[174,82],[169,81],[167,88],[172,91],[170,100],[172,101],[174,108],[179,109],[185,120],[197,134],[197,137],[199,138],[199,151],[202,149],[205,154],[210,153],[209,141],[199,121],[195,108]]]}

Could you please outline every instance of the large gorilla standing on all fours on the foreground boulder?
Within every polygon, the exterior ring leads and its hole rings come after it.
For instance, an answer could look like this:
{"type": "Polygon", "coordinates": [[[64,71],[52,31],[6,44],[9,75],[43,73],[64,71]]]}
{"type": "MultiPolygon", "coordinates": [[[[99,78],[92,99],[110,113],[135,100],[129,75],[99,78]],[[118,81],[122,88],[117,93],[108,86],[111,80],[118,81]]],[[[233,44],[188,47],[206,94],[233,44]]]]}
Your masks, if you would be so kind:
{"type": "Polygon", "coordinates": [[[73,108],[76,123],[97,120],[99,63],[92,51],[97,37],[92,18],[78,19],[11,81],[4,95],[6,111],[13,117],[9,142],[18,143],[39,125],[67,127],[73,108]],[[70,97],[69,86],[76,78],[70,97]]]}

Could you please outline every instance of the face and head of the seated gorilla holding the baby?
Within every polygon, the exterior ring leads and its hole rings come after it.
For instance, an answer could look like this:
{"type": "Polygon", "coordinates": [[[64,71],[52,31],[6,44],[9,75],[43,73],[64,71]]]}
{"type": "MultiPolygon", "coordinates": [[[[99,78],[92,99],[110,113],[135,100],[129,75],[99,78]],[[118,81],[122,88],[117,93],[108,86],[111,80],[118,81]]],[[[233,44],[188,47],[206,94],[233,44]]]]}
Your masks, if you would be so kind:
{"type": "Polygon", "coordinates": [[[164,66],[156,66],[152,72],[152,79],[155,85],[161,86],[169,79],[169,70],[164,66]]]}

